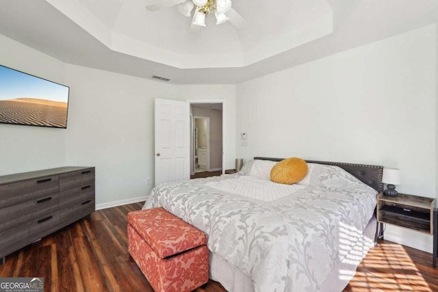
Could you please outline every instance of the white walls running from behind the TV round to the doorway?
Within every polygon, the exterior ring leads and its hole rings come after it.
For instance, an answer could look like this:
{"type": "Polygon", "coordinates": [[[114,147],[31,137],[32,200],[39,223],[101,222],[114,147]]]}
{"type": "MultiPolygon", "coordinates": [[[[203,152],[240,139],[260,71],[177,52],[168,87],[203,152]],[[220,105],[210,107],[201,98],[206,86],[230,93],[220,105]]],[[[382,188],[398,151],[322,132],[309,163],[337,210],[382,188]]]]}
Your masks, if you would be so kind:
{"type": "MultiPolygon", "coordinates": [[[[142,200],[154,181],[155,98],[222,100],[235,136],[235,85],[171,85],[64,64],[0,36],[0,63],[70,86],[67,129],[0,124],[0,175],[96,167],[96,207],[142,200]]],[[[227,140],[232,166],[235,139],[227,140]]]]}

